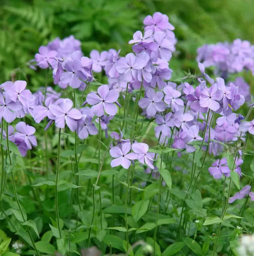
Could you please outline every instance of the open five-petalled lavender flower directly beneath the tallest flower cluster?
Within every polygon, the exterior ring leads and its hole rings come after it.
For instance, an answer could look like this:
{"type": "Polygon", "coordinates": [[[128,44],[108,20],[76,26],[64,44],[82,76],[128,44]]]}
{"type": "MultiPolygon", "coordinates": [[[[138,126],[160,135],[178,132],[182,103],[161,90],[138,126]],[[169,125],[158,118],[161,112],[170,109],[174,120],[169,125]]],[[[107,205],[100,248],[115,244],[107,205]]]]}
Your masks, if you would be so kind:
{"type": "Polygon", "coordinates": [[[156,92],[150,88],[146,91],[146,97],[139,101],[138,105],[146,109],[146,113],[149,117],[155,116],[156,112],[163,112],[166,109],[166,104],[162,102],[164,97],[163,92],[156,92]]]}

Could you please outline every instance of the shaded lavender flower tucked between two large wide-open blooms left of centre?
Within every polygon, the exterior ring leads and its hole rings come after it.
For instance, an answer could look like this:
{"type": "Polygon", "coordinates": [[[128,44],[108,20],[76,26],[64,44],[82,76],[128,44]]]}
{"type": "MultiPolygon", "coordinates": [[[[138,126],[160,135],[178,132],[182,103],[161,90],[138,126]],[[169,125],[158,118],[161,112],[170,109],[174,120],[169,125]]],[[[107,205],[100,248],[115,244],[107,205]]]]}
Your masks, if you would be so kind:
{"type": "Polygon", "coordinates": [[[80,139],[86,139],[88,135],[96,135],[98,133],[95,124],[92,122],[94,114],[89,107],[80,109],[83,117],[78,121],[77,133],[80,139]]]}

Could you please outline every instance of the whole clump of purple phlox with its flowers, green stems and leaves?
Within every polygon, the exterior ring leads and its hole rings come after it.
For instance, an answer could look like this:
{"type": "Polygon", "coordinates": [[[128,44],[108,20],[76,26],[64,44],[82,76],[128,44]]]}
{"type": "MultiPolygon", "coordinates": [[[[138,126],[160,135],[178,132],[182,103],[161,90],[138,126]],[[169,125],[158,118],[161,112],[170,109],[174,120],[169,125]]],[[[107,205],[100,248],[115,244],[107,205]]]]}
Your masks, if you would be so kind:
{"type": "Polygon", "coordinates": [[[179,82],[171,79],[169,67],[174,29],[164,14],[146,16],[126,55],[109,49],[84,56],[73,36],[56,38],[30,62],[52,75],[51,84],[37,91],[24,80],[0,85],[1,220],[33,254],[74,255],[92,245],[103,255],[113,250],[141,256],[147,248],[156,256],[235,252],[242,229],[232,229],[243,220],[247,232],[250,224],[243,218],[248,200],[254,201],[254,175],[242,171],[254,120],[248,120],[249,85],[242,77],[231,81],[230,74],[254,72],[254,49],[239,39],[198,48],[199,73],[179,82]],[[207,71],[212,66],[213,77],[207,71]],[[56,147],[54,157],[48,144],[56,147]],[[42,238],[39,224],[27,218],[14,176],[16,158],[28,155],[31,161],[41,149],[46,169],[40,169],[37,183],[30,180],[31,193],[38,203],[54,205],[42,238]],[[208,182],[223,187],[221,194],[208,182]],[[45,186],[47,192],[55,188],[54,197],[38,196],[45,186]],[[205,189],[211,195],[202,201],[205,189]],[[203,202],[215,200],[220,208],[207,212],[203,202]]]}

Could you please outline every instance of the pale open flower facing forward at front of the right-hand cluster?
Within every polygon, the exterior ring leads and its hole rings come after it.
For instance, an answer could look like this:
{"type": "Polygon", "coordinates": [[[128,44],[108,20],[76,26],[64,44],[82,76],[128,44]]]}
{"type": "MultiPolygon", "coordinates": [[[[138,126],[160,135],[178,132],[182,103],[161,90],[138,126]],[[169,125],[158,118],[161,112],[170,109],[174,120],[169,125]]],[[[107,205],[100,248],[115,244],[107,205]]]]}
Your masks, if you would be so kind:
{"type": "Polygon", "coordinates": [[[213,111],[217,111],[220,108],[220,101],[223,97],[223,92],[217,86],[217,84],[213,84],[210,89],[202,89],[201,96],[199,99],[199,104],[201,107],[209,109],[213,111]]]}

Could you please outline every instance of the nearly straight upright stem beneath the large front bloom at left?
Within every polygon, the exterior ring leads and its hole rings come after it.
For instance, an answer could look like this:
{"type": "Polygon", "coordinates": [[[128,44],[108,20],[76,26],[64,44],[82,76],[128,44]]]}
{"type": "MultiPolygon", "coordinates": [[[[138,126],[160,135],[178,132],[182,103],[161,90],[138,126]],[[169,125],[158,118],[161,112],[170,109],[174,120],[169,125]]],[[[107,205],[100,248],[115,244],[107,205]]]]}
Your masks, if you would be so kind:
{"type": "Polygon", "coordinates": [[[56,208],[56,223],[59,231],[60,239],[62,239],[62,231],[60,226],[60,217],[58,209],[58,178],[59,178],[59,169],[60,169],[60,142],[61,142],[61,128],[59,128],[58,133],[58,144],[57,144],[57,162],[56,162],[56,186],[55,186],[55,208],[56,208]]]}

